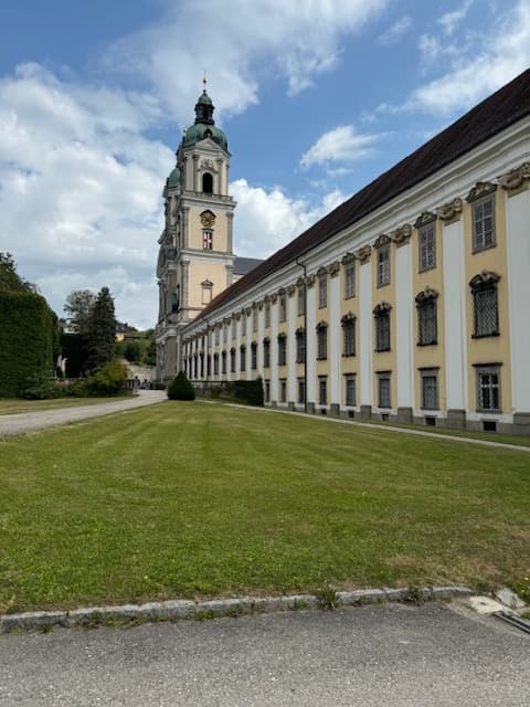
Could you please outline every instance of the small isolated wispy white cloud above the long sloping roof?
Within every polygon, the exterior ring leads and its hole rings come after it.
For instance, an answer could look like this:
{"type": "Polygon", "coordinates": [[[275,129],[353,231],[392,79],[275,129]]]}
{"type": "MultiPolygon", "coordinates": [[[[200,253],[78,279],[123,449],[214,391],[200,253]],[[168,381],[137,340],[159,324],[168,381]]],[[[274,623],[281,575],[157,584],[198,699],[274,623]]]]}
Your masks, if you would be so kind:
{"type": "Polygon", "coordinates": [[[369,157],[374,145],[383,135],[369,135],[356,131],[352,125],[342,125],[321,135],[301,156],[300,165],[326,165],[329,162],[352,162],[369,157]]]}

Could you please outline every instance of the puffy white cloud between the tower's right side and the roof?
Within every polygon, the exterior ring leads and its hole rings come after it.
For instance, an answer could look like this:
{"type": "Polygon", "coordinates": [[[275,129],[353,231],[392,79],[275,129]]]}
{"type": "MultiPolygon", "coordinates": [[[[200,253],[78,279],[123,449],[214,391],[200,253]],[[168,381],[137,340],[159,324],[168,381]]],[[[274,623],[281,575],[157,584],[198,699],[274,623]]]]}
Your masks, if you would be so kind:
{"type": "Polygon", "coordinates": [[[292,199],[279,187],[265,190],[252,187],[246,179],[231,184],[237,201],[235,242],[237,255],[267,257],[338,207],[344,196],[336,190],[317,203],[292,199]]]}

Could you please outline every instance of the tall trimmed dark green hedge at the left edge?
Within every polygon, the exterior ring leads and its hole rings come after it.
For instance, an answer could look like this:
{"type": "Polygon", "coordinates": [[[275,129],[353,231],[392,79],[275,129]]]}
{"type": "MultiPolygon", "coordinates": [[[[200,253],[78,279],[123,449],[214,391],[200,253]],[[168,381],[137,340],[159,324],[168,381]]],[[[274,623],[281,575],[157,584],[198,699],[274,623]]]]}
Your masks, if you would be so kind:
{"type": "Polygon", "coordinates": [[[53,373],[56,316],[32,292],[0,292],[0,397],[14,397],[28,378],[53,373]]]}

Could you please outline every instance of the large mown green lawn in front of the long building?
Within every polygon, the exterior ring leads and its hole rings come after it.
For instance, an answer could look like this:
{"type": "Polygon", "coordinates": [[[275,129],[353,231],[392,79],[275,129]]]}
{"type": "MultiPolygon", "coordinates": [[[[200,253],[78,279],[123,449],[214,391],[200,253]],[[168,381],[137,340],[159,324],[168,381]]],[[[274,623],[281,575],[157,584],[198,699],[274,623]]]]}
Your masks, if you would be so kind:
{"type": "Polygon", "coordinates": [[[509,581],[530,455],[170,403],[0,441],[0,611],[509,581]]]}

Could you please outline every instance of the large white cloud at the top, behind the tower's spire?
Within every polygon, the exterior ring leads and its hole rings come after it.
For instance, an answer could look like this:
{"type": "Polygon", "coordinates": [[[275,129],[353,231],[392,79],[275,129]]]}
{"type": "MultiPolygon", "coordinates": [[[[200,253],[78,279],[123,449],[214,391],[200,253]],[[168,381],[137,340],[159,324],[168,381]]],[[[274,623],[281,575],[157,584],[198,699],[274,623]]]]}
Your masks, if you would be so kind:
{"type": "Polygon", "coordinates": [[[218,117],[258,101],[268,72],[296,94],[337,63],[341,39],[380,14],[389,0],[167,0],[157,25],[124,38],[107,67],[142,76],[186,124],[208,72],[218,117]]]}

